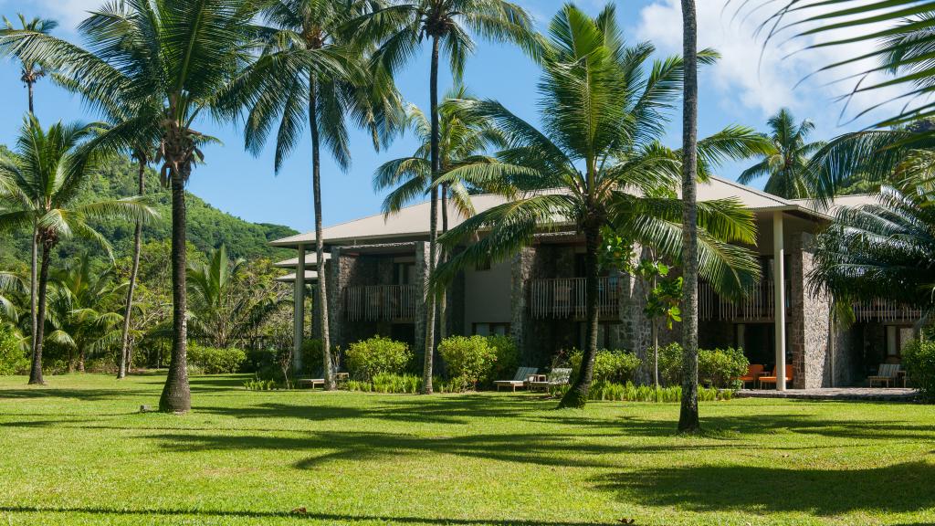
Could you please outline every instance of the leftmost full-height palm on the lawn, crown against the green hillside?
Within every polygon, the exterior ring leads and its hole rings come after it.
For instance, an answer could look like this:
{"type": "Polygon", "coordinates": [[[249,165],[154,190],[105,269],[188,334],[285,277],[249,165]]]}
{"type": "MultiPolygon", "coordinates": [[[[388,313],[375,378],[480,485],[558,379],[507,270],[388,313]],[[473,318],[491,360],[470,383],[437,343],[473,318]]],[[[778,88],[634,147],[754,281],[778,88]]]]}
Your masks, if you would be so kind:
{"type": "Polygon", "coordinates": [[[43,384],[42,344],[46,291],[52,251],[59,241],[80,236],[110,245],[89,221],[106,218],[145,220],[154,215],[139,197],[77,202],[79,187],[99,169],[106,156],[94,145],[101,124],[53,124],[44,130],[36,117],[27,117],[16,152],[0,156],[0,173],[15,186],[0,196],[0,228],[38,226],[42,248],[38,275],[38,308],[30,384],[43,384]]]}

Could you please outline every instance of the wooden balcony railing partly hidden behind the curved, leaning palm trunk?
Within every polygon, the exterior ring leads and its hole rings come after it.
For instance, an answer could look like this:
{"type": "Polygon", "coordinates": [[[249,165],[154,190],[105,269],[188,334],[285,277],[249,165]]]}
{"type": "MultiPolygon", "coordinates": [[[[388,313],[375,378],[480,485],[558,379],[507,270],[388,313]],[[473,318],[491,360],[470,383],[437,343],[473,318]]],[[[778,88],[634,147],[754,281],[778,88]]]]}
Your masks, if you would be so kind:
{"type": "MultiPolygon", "coordinates": [[[[584,278],[531,280],[529,314],[533,318],[583,318],[587,315],[584,278]]],[[[597,279],[597,314],[615,315],[620,311],[620,279],[597,279]]]]}

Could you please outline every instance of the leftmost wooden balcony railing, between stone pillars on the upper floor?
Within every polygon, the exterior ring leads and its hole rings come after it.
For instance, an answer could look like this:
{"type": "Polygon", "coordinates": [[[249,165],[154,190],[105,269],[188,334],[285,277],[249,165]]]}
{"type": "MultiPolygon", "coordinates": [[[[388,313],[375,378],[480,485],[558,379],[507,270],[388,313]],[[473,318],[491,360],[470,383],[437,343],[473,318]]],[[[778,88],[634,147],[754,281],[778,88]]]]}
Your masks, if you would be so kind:
{"type": "Polygon", "coordinates": [[[344,317],[350,321],[413,320],[423,304],[418,285],[366,285],[344,289],[344,317]]]}

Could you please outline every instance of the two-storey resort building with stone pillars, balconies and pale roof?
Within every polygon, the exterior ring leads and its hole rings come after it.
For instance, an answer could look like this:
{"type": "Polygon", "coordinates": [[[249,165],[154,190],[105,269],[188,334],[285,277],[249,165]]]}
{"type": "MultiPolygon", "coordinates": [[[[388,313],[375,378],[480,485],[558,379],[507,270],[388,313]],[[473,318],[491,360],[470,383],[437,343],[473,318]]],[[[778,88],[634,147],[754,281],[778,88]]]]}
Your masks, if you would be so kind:
{"type": "MultiPolygon", "coordinates": [[[[767,371],[792,366],[791,381],[785,386],[780,374],[778,388],[859,385],[879,364],[899,362],[918,311],[872,301],[854,305],[855,318],[839,323],[830,299],[814,294],[808,285],[814,236],[830,221],[830,212],[720,178],[698,186],[700,201],[725,197],[740,198],[755,213],[757,242],[750,248],[760,256],[762,280],[736,302],[722,300],[710,285],[699,285],[702,348],[741,347],[751,363],[763,364],[767,371]]],[[[841,197],[835,206],[870,198],[841,197]]],[[[495,195],[473,197],[478,211],[502,202],[504,197],[495,195]]],[[[297,251],[297,257],[278,264],[295,270],[281,280],[295,284],[296,344],[303,335],[319,331],[303,327],[302,320],[306,285],[324,271],[333,345],[345,347],[380,334],[408,342],[420,353],[428,229],[428,203],[388,218],[377,214],[324,228],[324,266],[315,260],[313,232],[273,241],[297,251]]],[[[548,367],[559,350],[583,346],[583,252],[583,237],[569,225],[565,231],[542,232],[532,246],[507,261],[462,272],[449,288],[436,334],[510,334],[524,365],[548,367]]],[[[624,274],[600,278],[599,347],[648,358],[651,331],[642,313],[640,286],[624,274]]],[[[661,343],[678,341],[680,334],[677,327],[664,329],[661,343]]]]}

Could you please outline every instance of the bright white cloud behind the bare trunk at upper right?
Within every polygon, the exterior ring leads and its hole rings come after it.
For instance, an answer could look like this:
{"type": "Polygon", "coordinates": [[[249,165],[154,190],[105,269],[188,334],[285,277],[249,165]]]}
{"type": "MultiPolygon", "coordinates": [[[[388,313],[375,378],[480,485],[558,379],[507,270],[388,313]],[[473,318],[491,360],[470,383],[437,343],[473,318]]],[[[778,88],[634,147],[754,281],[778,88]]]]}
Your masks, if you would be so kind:
{"type": "MultiPolygon", "coordinates": [[[[716,66],[703,74],[701,81],[713,83],[713,87],[722,95],[721,104],[726,108],[740,104],[748,109],[759,110],[764,115],[787,106],[802,116],[811,115],[816,120],[825,121],[829,126],[837,124],[843,106],[841,103],[836,104],[835,98],[849,93],[856,82],[842,79],[860,73],[868,65],[841,67],[806,80],[798,87],[797,83],[842,57],[871,51],[874,43],[856,43],[786,56],[809,42],[794,39],[780,43],[784,39],[778,38],[764,46],[762,38],[755,37],[755,30],[756,23],[761,22],[766,15],[760,11],[749,18],[744,18],[743,13],[734,18],[733,9],[739,4],[732,2],[725,8],[726,4],[727,0],[698,2],[698,47],[714,48],[723,57],[716,66]],[[836,80],[842,81],[834,82],[836,80]]],[[[844,37],[848,32],[854,36],[856,32],[866,31],[867,28],[848,29],[822,38],[844,37]]],[[[667,54],[681,53],[681,3],[678,0],[655,0],[644,7],[640,11],[637,35],[640,39],[651,40],[660,51],[667,54]]],[[[858,95],[851,102],[850,108],[867,108],[885,100],[887,96],[897,94],[899,91],[893,90],[858,95]]],[[[848,113],[854,115],[855,111],[849,110],[848,113]]],[[[874,115],[881,116],[878,113],[874,115]]]]}

